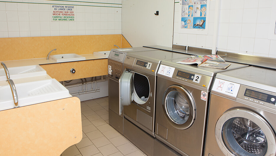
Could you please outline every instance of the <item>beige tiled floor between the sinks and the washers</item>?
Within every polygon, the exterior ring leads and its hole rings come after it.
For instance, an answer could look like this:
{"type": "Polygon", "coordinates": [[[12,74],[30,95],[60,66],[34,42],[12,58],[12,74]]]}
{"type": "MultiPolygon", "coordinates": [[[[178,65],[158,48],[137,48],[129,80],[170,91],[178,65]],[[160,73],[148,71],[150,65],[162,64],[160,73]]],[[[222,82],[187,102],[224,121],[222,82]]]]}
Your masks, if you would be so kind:
{"type": "Polygon", "coordinates": [[[81,102],[82,140],[61,156],[146,156],[108,124],[108,97],[81,102]]]}

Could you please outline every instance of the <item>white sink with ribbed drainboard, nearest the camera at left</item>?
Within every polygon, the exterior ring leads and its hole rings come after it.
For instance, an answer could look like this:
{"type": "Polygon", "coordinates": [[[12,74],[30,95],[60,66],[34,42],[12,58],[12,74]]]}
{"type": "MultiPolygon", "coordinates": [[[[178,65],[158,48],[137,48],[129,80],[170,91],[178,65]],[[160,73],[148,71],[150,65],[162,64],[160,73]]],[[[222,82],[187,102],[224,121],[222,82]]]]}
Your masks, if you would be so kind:
{"type": "MultiPolygon", "coordinates": [[[[72,97],[56,79],[15,84],[19,107],[72,97]]],[[[9,85],[0,86],[0,111],[14,108],[9,85]]]]}

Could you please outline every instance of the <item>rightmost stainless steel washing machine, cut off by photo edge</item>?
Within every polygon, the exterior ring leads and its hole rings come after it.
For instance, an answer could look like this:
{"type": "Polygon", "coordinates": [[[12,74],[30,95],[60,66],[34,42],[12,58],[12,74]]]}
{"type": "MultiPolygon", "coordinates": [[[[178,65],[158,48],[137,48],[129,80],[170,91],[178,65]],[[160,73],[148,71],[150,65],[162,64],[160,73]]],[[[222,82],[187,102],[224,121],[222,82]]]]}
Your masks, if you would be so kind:
{"type": "Polygon", "coordinates": [[[205,156],[276,155],[276,70],[249,66],[217,74],[205,156]]]}

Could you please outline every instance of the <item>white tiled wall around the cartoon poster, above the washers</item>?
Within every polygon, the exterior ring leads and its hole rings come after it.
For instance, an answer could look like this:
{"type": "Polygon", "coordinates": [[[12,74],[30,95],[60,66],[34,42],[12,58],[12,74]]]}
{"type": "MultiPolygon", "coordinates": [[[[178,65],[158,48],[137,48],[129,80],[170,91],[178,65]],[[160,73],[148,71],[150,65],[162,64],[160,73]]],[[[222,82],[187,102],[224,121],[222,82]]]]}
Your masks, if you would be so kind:
{"type": "MultiPolygon", "coordinates": [[[[215,1],[210,1],[209,29],[214,24],[215,1]]],[[[276,40],[268,39],[272,1],[221,0],[217,50],[276,58],[276,40]]],[[[178,5],[175,4],[175,14],[179,14],[178,5]]],[[[175,22],[174,30],[178,26],[175,22]]],[[[212,33],[209,30],[208,35],[191,35],[174,31],[173,44],[212,49],[212,33]]]]}

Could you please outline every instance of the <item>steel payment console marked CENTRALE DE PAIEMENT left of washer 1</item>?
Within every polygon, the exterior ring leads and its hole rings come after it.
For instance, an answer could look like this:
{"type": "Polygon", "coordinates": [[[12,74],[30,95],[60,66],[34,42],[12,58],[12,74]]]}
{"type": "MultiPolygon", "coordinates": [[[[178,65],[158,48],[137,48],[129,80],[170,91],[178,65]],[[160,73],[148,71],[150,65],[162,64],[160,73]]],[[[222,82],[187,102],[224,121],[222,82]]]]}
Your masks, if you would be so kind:
{"type": "Polygon", "coordinates": [[[109,124],[123,134],[123,116],[119,115],[119,78],[123,73],[123,62],[127,53],[152,51],[145,47],[111,49],[108,56],[108,115],[109,124]]]}

